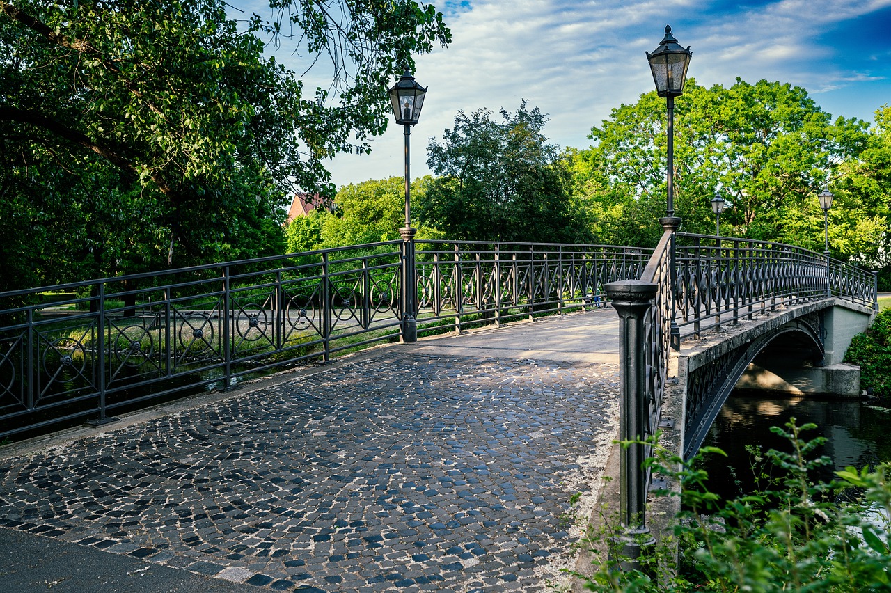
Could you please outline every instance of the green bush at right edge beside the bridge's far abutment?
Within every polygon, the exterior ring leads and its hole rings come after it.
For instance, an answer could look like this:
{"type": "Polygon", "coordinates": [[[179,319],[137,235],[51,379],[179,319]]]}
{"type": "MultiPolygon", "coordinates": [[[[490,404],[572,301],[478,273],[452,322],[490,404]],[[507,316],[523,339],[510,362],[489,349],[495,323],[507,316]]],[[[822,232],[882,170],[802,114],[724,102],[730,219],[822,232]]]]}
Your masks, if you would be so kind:
{"type": "Polygon", "coordinates": [[[851,340],[845,361],[860,366],[860,386],[879,397],[891,397],[891,309],[851,340]]]}

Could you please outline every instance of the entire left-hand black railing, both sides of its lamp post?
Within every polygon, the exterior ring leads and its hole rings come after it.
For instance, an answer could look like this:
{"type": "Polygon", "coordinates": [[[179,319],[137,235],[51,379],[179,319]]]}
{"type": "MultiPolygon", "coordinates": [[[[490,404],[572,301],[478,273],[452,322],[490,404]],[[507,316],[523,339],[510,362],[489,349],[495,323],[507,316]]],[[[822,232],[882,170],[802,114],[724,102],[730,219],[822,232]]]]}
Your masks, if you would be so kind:
{"type": "MultiPolygon", "coordinates": [[[[606,301],[637,248],[417,241],[418,331],[606,301]]],[[[403,337],[389,241],[0,293],[0,438],[403,337]],[[53,297],[53,301],[47,297],[53,297]]]]}

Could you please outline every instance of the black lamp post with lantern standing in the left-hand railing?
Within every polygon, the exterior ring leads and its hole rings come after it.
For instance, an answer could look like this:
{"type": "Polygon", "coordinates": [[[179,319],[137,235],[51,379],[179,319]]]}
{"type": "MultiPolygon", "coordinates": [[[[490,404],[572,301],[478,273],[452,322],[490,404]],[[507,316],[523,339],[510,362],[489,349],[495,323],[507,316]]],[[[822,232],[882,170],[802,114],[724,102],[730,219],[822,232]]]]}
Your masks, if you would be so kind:
{"type": "Polygon", "coordinates": [[[403,302],[403,331],[404,342],[416,342],[418,340],[418,324],[415,315],[418,313],[415,305],[417,288],[414,277],[414,233],[412,228],[411,210],[411,180],[409,176],[409,136],[412,134],[412,126],[418,123],[421,117],[421,107],[424,104],[424,95],[427,89],[415,82],[412,73],[406,68],[405,74],[399,78],[399,82],[389,90],[390,103],[393,105],[393,115],[396,124],[405,127],[405,227],[399,229],[399,234],[404,241],[403,245],[403,277],[402,277],[402,302],[403,302]]]}

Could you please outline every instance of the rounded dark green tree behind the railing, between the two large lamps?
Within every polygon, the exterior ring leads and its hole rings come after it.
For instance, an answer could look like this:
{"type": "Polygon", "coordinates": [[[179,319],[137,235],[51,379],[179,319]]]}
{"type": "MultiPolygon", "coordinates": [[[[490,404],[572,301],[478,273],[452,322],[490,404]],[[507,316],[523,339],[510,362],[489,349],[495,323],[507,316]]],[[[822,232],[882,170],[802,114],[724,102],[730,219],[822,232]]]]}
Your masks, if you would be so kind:
{"type": "Polygon", "coordinates": [[[429,143],[437,178],[418,218],[456,240],[571,241],[576,232],[568,167],[546,143],[547,118],[523,102],[516,113],[459,111],[443,142],[429,143]]]}

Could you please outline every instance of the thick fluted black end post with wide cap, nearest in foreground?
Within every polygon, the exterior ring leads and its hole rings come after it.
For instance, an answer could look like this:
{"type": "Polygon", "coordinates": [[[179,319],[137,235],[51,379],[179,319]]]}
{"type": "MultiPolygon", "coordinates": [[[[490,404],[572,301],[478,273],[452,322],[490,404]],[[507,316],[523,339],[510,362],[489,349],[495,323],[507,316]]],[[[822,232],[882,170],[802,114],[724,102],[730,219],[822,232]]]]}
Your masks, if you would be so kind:
{"type": "MultiPolygon", "coordinates": [[[[674,236],[674,235],[673,235],[674,236]]],[[[645,319],[658,286],[642,280],[618,280],[606,285],[607,295],[619,317],[619,520],[623,531],[619,541],[623,556],[636,559],[642,548],[655,543],[641,541],[650,532],[646,524],[647,471],[646,445],[650,422],[647,394],[645,319]],[[625,446],[625,443],[631,443],[625,446]]]]}

